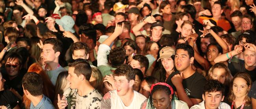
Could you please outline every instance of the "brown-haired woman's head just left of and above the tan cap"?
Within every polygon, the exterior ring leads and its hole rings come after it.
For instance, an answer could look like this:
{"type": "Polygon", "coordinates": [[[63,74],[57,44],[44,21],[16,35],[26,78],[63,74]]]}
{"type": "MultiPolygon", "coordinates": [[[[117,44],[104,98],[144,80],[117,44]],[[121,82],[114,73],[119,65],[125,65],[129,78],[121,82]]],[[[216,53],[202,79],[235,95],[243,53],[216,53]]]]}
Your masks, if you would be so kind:
{"type": "Polygon", "coordinates": [[[154,56],[155,59],[157,59],[157,56],[158,56],[158,50],[159,50],[159,46],[156,42],[154,41],[148,41],[145,45],[145,48],[144,48],[144,53],[146,55],[152,55],[154,56]]]}

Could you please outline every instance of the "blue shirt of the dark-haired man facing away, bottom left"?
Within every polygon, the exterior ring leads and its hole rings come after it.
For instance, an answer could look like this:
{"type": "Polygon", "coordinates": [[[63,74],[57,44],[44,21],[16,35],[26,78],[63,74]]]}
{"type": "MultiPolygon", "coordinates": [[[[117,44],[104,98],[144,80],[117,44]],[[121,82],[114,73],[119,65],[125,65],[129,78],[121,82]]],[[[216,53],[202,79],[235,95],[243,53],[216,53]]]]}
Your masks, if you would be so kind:
{"type": "Polygon", "coordinates": [[[52,105],[52,102],[49,98],[47,98],[45,95],[43,95],[43,99],[34,106],[33,103],[30,103],[30,109],[55,109],[52,105]]]}

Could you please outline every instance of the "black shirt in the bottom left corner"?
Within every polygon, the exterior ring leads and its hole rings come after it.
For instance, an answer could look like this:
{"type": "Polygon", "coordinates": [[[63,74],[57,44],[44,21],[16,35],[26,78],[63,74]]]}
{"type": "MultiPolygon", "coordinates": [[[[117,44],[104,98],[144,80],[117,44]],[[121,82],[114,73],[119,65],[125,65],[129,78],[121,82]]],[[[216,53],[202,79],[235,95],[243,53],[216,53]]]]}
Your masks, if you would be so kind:
{"type": "Polygon", "coordinates": [[[0,105],[4,105],[7,108],[11,107],[11,109],[13,109],[18,104],[18,102],[18,98],[11,91],[0,91],[0,105]]]}

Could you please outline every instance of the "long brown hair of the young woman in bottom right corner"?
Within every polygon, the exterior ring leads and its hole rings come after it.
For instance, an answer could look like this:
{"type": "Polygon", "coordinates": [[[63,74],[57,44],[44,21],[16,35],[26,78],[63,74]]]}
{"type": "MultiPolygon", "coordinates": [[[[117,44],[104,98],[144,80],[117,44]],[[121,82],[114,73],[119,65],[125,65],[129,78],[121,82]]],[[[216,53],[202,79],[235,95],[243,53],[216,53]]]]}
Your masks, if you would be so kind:
{"type": "MultiPolygon", "coordinates": [[[[233,93],[233,82],[236,78],[241,78],[244,79],[246,81],[246,84],[248,86],[248,90],[246,95],[248,95],[250,87],[252,86],[252,80],[251,77],[248,73],[245,72],[238,72],[236,73],[236,75],[234,76],[234,78],[232,79],[232,82],[230,84],[230,89],[229,89],[229,96],[228,96],[228,101],[229,102],[233,102],[233,100],[235,100],[236,96],[233,93]]],[[[250,105],[252,103],[251,99],[249,96],[245,96],[245,105],[250,105]]]]}

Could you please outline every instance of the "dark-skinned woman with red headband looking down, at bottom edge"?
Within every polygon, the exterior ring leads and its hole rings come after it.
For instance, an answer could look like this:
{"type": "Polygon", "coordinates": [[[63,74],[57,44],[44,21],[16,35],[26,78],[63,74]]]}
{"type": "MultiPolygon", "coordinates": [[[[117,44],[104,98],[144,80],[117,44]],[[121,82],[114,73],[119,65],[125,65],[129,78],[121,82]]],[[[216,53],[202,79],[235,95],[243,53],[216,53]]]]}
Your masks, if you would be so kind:
{"type": "MultiPolygon", "coordinates": [[[[146,109],[189,109],[187,104],[180,100],[172,100],[173,88],[164,83],[152,84],[150,97],[146,109]]],[[[144,108],[143,108],[144,109],[144,108]]]]}

